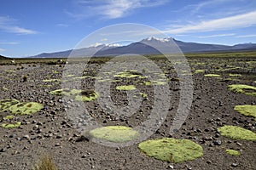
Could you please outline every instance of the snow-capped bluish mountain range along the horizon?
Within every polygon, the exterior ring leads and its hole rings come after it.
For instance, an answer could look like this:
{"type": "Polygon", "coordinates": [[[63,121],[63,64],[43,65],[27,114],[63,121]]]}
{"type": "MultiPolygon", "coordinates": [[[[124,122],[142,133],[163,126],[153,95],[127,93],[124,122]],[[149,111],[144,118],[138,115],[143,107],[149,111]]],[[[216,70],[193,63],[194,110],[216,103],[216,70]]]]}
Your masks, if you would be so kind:
{"type": "Polygon", "coordinates": [[[111,56],[119,54],[161,54],[180,52],[183,53],[207,53],[207,52],[233,52],[233,51],[249,51],[256,50],[256,43],[243,43],[233,46],[206,44],[197,42],[182,42],[172,37],[156,38],[148,37],[139,42],[133,42],[125,46],[115,44],[100,44],[92,45],[87,48],[79,48],[75,50],[67,50],[55,53],[43,53],[29,58],[67,58],[69,55],[73,57],[84,56],[111,56]],[[173,43],[175,42],[175,43],[173,43]],[[176,45],[175,45],[176,44],[176,45]],[[173,49],[173,50],[172,50],[173,49]]]}

